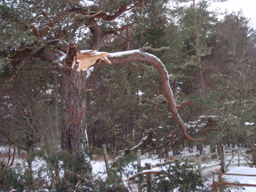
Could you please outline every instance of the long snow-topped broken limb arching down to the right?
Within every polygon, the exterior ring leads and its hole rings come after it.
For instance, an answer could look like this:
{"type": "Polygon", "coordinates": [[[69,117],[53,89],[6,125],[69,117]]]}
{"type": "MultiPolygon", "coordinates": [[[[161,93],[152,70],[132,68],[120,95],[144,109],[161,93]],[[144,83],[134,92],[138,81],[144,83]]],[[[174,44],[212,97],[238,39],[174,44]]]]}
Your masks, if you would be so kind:
{"type": "MultiPolygon", "coordinates": [[[[165,69],[164,64],[161,62],[161,60],[159,60],[155,55],[149,54],[147,52],[141,52],[140,49],[133,50],[133,51],[109,53],[109,54],[110,54],[110,57],[108,57],[108,59],[111,61],[111,64],[113,65],[129,63],[129,62],[146,62],[148,64],[153,65],[158,70],[159,75],[161,76],[162,88],[168,100],[169,109],[172,113],[172,116],[178,123],[184,137],[192,141],[204,140],[204,138],[193,138],[188,134],[186,130],[186,125],[184,124],[177,110],[172,89],[169,84],[168,72],[165,69]]],[[[99,63],[100,62],[97,62],[96,65],[99,63]]],[[[103,64],[103,63],[107,64],[106,62],[101,62],[100,64],[103,64]]]]}

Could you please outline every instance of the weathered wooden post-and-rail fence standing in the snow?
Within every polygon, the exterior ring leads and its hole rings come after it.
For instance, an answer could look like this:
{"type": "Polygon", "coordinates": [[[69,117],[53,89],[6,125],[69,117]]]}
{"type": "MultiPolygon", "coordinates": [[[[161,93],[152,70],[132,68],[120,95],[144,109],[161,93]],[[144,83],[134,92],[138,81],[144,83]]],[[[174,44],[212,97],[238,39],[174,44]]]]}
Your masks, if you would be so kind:
{"type": "MultiPolygon", "coordinates": [[[[109,164],[108,164],[106,145],[103,145],[102,147],[103,147],[104,159],[106,163],[106,169],[108,173],[109,164]]],[[[151,188],[152,173],[154,173],[154,171],[152,171],[152,168],[173,164],[173,161],[167,161],[167,162],[164,162],[161,164],[155,164],[155,165],[146,163],[145,166],[141,166],[140,156],[141,156],[141,152],[140,150],[138,150],[137,151],[138,172],[141,172],[142,170],[148,170],[148,171],[143,172],[143,174],[146,174],[146,183],[143,183],[142,173],[136,175],[136,177],[138,178],[138,192],[141,192],[141,189],[145,187],[147,187],[147,192],[151,192],[152,191],[152,188],[151,188]]],[[[220,171],[222,173],[225,173],[229,166],[249,165],[250,167],[252,167],[253,163],[255,164],[255,159],[256,159],[256,145],[254,145],[253,149],[252,148],[225,148],[225,146],[220,146],[218,152],[203,154],[203,155],[197,154],[196,156],[188,156],[186,158],[189,161],[191,161],[191,164],[195,166],[195,170],[199,173],[199,175],[201,175],[202,178],[207,178],[212,175],[211,167],[220,166],[220,171]],[[228,156],[231,156],[231,158],[227,159],[228,156]],[[237,159],[234,158],[235,156],[237,156],[237,159]],[[241,157],[243,157],[243,159],[241,159],[241,157]],[[246,163],[241,163],[241,160],[244,160],[246,163]],[[207,166],[207,164],[212,162],[217,162],[217,163],[207,166]],[[228,162],[228,164],[226,164],[226,162],[228,162]],[[233,164],[234,162],[237,162],[237,163],[233,164]],[[208,171],[205,171],[207,169],[208,171]]],[[[215,182],[215,184],[220,184],[220,183],[215,182]]]]}

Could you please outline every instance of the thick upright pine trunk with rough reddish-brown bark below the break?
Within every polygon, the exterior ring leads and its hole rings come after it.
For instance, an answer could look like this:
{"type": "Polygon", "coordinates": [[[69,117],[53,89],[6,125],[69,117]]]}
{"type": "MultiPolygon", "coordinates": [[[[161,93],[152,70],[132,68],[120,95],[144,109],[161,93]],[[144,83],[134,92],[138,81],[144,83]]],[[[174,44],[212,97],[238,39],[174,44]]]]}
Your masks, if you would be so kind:
{"type": "Polygon", "coordinates": [[[62,77],[63,109],[61,128],[61,147],[70,152],[83,148],[87,143],[85,124],[85,83],[86,72],[77,72],[76,68],[60,69],[62,77]]]}

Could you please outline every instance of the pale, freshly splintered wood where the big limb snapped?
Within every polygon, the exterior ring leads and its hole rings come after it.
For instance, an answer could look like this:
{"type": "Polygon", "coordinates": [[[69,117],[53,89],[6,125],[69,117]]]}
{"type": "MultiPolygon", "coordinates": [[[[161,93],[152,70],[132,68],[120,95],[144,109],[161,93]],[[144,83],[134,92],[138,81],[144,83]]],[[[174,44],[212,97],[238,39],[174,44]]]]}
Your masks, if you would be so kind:
{"type": "Polygon", "coordinates": [[[98,59],[104,60],[107,63],[111,64],[110,60],[108,60],[107,56],[110,56],[106,52],[97,52],[97,50],[94,51],[88,51],[83,53],[76,52],[76,57],[74,57],[74,60],[72,62],[72,68],[78,64],[77,71],[87,71],[89,67],[94,65],[98,59]]]}

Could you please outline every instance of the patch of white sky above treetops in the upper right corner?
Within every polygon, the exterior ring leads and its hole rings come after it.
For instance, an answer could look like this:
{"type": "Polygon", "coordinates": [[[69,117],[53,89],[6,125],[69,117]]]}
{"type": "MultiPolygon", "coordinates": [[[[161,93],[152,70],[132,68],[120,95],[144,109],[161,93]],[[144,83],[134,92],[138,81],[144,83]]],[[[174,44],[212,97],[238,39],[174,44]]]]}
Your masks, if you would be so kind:
{"type": "Polygon", "coordinates": [[[228,13],[237,13],[242,9],[244,16],[251,19],[250,26],[256,28],[256,0],[228,0],[223,3],[212,3],[212,8],[219,8],[221,12],[227,9],[228,13]]]}

